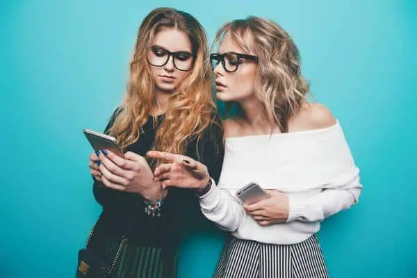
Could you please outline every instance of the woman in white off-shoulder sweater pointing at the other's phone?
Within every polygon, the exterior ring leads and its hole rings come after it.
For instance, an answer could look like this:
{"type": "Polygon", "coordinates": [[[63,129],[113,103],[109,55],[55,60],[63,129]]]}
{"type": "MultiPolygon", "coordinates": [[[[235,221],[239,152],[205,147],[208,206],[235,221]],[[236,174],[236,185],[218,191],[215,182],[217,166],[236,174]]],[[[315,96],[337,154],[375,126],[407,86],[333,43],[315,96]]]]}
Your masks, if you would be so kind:
{"type": "Polygon", "coordinates": [[[341,125],[306,101],[298,49],[280,26],[248,17],[225,24],[216,38],[217,97],[238,108],[224,122],[220,181],[192,158],[149,152],[167,162],[155,181],[199,188],[204,215],[233,234],[215,277],[328,277],[320,222],[356,204],[361,191],[341,125]],[[242,204],[236,191],[251,181],[270,197],[242,204]]]}

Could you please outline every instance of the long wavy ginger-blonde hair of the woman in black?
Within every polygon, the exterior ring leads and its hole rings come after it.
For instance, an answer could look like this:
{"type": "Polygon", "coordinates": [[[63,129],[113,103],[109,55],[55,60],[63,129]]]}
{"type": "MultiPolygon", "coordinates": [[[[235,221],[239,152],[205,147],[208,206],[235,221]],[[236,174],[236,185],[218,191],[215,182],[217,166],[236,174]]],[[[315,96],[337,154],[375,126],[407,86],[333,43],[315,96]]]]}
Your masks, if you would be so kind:
{"type": "Polygon", "coordinates": [[[197,58],[193,69],[170,97],[165,118],[156,131],[153,149],[185,154],[187,140],[190,137],[200,138],[202,131],[213,120],[216,106],[204,28],[188,13],[172,8],[156,8],[139,27],[123,110],[109,129],[122,149],[138,140],[142,126],[154,107],[154,80],[146,57],[156,33],[166,27],[186,33],[197,58]]]}

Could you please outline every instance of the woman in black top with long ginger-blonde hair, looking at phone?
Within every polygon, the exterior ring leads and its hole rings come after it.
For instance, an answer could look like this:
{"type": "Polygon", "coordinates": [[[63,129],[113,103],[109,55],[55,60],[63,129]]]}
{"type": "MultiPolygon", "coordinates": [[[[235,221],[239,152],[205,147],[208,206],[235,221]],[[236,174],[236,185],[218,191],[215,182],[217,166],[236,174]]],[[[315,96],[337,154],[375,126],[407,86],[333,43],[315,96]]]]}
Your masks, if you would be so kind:
{"type": "Polygon", "coordinates": [[[144,19],[127,93],[106,133],[117,138],[125,158],[106,149],[90,155],[94,195],[103,207],[90,248],[111,263],[126,235],[111,277],[176,277],[181,237],[209,227],[199,211],[204,192],[162,188],[152,169],[163,161],[145,154],[191,157],[216,181],[224,154],[206,34],[193,16],[157,8],[144,19]]]}

